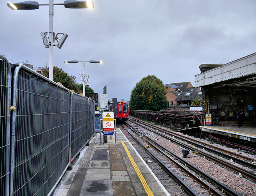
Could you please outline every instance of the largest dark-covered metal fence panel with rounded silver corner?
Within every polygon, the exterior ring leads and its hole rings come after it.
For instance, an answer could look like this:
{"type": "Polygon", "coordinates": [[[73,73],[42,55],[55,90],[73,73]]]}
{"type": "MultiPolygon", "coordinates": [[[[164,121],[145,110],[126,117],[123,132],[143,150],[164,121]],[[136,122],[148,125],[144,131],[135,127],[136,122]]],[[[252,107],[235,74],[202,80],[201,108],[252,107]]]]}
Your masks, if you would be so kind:
{"type": "Polygon", "coordinates": [[[47,195],[69,165],[70,93],[25,66],[16,67],[11,195],[47,195]]]}

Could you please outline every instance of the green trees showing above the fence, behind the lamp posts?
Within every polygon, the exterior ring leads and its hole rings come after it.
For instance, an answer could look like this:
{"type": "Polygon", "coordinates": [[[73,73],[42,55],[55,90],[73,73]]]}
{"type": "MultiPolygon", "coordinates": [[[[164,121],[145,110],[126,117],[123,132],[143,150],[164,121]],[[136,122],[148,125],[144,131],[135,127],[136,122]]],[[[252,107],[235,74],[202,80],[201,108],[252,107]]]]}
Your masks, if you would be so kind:
{"type": "MultiPolygon", "coordinates": [[[[49,68],[40,67],[39,69],[41,71],[38,71],[38,73],[42,74],[46,78],[49,78],[49,68]]],[[[76,83],[76,77],[73,75],[68,75],[64,70],[56,66],[53,68],[53,81],[60,82],[64,87],[80,93],[78,84],[76,83]]]]}

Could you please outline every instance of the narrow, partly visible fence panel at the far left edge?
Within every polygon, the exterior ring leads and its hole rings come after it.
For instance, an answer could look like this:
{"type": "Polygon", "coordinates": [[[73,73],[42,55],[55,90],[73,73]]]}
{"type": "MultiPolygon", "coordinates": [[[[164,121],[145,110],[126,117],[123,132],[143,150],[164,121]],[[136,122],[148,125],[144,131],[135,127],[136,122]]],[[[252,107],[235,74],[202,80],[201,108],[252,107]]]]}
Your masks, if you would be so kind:
{"type": "Polygon", "coordinates": [[[9,195],[10,176],[10,112],[8,106],[11,101],[11,78],[10,64],[4,55],[0,54],[0,195],[9,195]]]}

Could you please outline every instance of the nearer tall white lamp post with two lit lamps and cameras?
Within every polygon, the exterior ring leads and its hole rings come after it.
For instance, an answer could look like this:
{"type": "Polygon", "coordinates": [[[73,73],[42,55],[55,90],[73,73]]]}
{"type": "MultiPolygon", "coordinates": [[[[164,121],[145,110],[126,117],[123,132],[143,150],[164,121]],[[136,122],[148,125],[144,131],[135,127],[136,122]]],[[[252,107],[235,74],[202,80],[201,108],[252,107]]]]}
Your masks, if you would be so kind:
{"type": "Polygon", "coordinates": [[[54,4],[53,0],[49,0],[49,4],[38,4],[36,1],[24,1],[20,3],[8,3],[7,6],[12,10],[36,10],[39,9],[39,6],[49,6],[49,44],[47,43],[46,34],[48,32],[42,32],[43,43],[46,48],[49,48],[49,79],[53,80],[53,46],[54,41],[57,40],[58,44],[56,46],[60,49],[68,37],[68,35],[63,34],[60,42],[58,41],[57,35],[53,32],[53,6],[55,5],[64,5],[65,8],[94,8],[92,1],[76,1],[76,0],[66,0],[64,3],[54,4]],[[46,42],[46,43],[45,43],[46,42]]]}

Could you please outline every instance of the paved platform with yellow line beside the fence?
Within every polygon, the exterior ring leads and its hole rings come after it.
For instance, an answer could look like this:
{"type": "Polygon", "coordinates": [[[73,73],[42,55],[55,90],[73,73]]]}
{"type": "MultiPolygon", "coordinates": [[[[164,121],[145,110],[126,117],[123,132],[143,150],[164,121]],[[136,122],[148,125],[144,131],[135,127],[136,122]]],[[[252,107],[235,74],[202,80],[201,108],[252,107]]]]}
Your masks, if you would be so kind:
{"type": "Polygon", "coordinates": [[[107,137],[101,145],[100,133],[95,133],[52,196],[170,195],[120,129],[116,145],[114,135],[107,137]]]}

